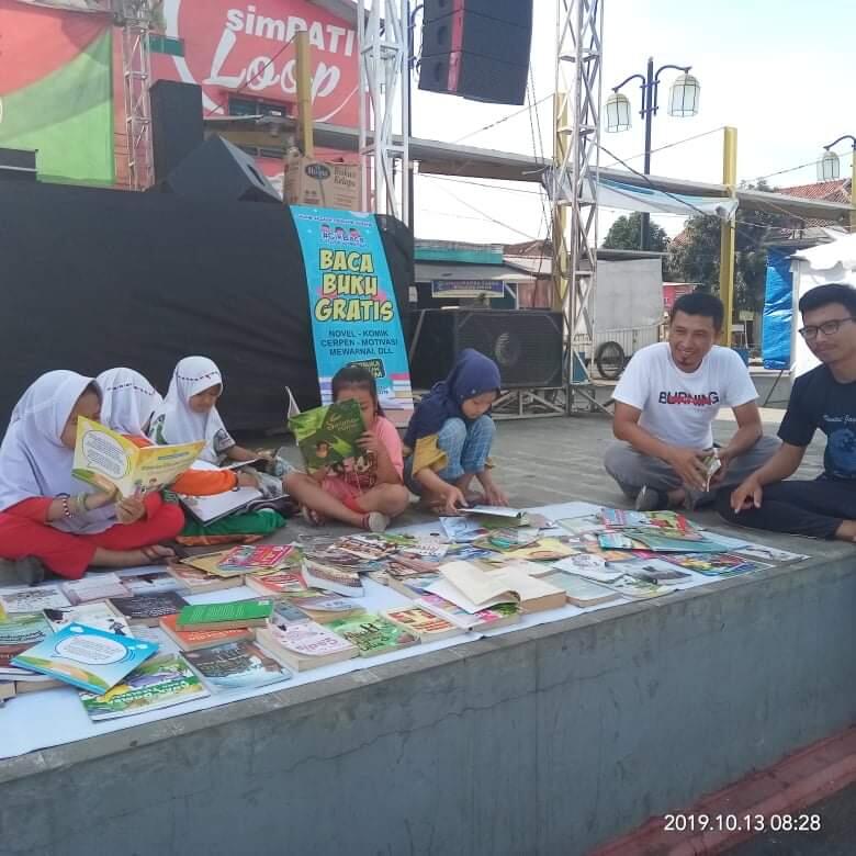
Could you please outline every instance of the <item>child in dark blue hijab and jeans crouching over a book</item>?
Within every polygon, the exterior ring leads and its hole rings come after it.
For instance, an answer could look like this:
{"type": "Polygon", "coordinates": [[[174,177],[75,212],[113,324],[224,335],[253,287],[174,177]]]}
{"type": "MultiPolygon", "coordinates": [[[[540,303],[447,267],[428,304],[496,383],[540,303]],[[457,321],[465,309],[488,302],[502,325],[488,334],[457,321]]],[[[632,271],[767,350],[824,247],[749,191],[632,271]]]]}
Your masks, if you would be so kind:
{"type": "Polygon", "coordinates": [[[499,397],[499,369],[472,348],[461,351],[451,373],[416,405],[404,444],[405,480],[415,494],[442,514],[462,505],[508,505],[488,464],[496,426],[488,415],[499,397]],[[468,495],[473,478],[484,496],[468,495]]]}

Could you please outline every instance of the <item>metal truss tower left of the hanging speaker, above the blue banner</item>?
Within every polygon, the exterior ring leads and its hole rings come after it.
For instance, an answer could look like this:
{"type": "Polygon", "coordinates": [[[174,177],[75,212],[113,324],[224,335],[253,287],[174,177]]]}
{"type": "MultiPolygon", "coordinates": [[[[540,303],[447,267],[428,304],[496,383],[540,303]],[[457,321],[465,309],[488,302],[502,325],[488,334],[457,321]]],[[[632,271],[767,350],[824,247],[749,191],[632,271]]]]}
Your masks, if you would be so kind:
{"type": "Polygon", "coordinates": [[[392,214],[406,223],[410,167],[405,86],[409,56],[408,2],[372,0],[371,9],[365,7],[367,0],[359,0],[362,209],[392,214]],[[397,182],[393,168],[396,159],[401,160],[397,182]]]}

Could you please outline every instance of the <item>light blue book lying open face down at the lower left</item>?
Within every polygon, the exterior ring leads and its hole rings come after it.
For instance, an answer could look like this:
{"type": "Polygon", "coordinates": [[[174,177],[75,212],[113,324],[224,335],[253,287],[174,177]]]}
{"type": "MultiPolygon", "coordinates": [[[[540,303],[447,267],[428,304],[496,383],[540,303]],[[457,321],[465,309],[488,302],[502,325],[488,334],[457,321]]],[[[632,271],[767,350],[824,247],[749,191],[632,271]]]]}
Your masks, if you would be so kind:
{"type": "Polygon", "coordinates": [[[69,624],[19,654],[12,665],[102,695],[156,651],[156,645],[133,637],[69,624]]]}

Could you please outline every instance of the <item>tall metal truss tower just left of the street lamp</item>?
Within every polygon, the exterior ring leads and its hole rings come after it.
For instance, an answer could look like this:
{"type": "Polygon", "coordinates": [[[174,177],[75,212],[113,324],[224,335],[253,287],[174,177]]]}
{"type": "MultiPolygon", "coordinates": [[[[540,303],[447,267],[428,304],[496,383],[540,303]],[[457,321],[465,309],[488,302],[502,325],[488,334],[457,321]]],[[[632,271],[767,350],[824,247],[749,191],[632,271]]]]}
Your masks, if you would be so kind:
{"type": "MultiPolygon", "coordinates": [[[[599,409],[576,347],[594,341],[602,0],[557,0],[555,143],[551,183],[556,305],[565,317],[566,407],[599,409]],[[587,193],[583,193],[587,185],[587,193]],[[584,201],[584,199],[593,201],[584,201]]],[[[582,350],[582,349],[581,349],[582,350]]]]}

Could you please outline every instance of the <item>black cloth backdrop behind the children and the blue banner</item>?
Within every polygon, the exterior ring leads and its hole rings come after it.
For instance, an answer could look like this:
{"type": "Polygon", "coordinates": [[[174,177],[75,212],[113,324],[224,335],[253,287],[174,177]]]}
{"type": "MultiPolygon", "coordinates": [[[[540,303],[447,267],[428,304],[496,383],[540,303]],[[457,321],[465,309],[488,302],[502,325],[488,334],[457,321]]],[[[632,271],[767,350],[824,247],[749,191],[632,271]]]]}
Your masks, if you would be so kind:
{"type": "MultiPolygon", "coordinates": [[[[382,222],[398,306],[413,255],[382,222]]],[[[166,392],[187,354],[214,359],[229,428],[284,425],[285,386],[319,403],[306,273],[288,209],[0,181],[5,323],[0,432],[49,369],[142,371],[166,392]]],[[[407,328],[409,325],[405,325],[407,328]]]]}

